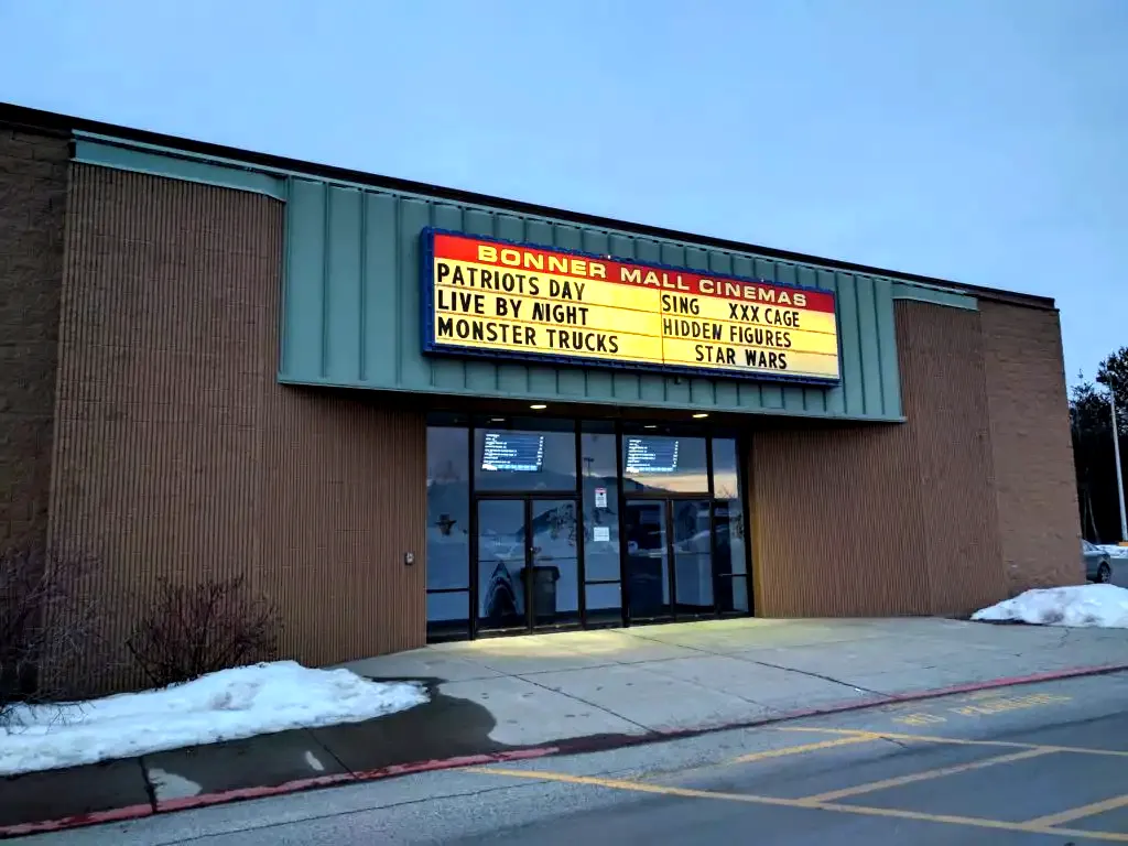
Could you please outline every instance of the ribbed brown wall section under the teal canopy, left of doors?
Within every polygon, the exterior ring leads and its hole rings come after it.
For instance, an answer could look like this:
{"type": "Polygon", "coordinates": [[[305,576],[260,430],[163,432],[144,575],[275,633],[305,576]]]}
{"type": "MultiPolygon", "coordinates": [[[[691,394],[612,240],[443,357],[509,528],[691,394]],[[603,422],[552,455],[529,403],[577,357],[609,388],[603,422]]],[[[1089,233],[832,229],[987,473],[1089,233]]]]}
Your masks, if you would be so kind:
{"type": "Polygon", "coordinates": [[[287,389],[264,412],[263,566],[276,571],[287,654],[324,664],[423,645],[423,420],[287,389]]]}

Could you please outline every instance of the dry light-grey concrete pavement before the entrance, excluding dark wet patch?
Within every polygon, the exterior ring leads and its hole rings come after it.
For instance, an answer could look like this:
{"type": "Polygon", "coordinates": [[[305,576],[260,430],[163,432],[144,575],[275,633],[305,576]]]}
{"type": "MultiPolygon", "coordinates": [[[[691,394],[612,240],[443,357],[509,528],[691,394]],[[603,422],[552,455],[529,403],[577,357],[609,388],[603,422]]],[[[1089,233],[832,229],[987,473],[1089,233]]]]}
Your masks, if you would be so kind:
{"type": "Polygon", "coordinates": [[[1128,662],[1128,632],[951,619],[734,619],[491,638],[345,664],[439,679],[491,740],[529,746],[766,720],[804,708],[1128,662]]]}

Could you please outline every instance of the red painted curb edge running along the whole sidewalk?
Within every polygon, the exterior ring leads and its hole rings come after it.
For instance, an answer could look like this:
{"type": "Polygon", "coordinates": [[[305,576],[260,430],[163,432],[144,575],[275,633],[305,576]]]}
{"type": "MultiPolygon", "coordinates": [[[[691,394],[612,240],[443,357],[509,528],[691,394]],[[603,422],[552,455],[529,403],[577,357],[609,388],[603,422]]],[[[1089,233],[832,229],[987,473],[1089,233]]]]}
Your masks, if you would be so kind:
{"type": "Polygon", "coordinates": [[[1103,664],[1099,667],[1076,667],[1068,670],[1054,670],[1050,672],[1032,673],[1030,676],[1012,676],[1007,678],[988,679],[986,681],[971,681],[964,685],[952,685],[951,687],[916,690],[908,694],[871,696],[864,699],[853,699],[849,702],[825,705],[814,708],[790,711],[758,720],[725,723],[723,725],[711,725],[699,729],[675,729],[670,731],[654,731],[647,734],[574,738],[558,743],[553,743],[550,746],[526,747],[522,749],[509,749],[502,752],[484,752],[482,755],[464,755],[453,758],[437,758],[433,760],[411,761],[407,764],[393,764],[387,767],[380,767],[379,769],[362,770],[360,773],[318,776],[316,778],[300,778],[275,785],[273,787],[241,787],[231,791],[220,791],[218,793],[202,793],[197,796],[186,796],[184,799],[171,799],[162,802],[156,802],[152,807],[130,805],[127,808],[118,808],[109,811],[95,811],[92,813],[79,814],[74,817],[63,817],[56,820],[24,822],[16,826],[0,826],[0,839],[19,837],[23,835],[42,834],[45,831],[61,831],[69,828],[82,828],[105,822],[141,819],[157,813],[171,813],[192,808],[209,808],[212,805],[229,804],[231,802],[239,802],[248,799],[263,799],[266,796],[300,793],[302,791],[317,790],[319,787],[333,787],[345,784],[363,784],[367,782],[377,782],[384,778],[394,778],[396,776],[409,775],[413,773],[430,773],[441,769],[458,769],[460,767],[481,767],[488,764],[532,760],[535,758],[546,758],[554,755],[600,752],[631,746],[642,746],[644,743],[656,743],[661,741],[699,737],[702,734],[712,734],[719,731],[754,729],[759,725],[788,722],[808,716],[841,714],[851,711],[864,711],[865,708],[878,707],[881,705],[896,705],[904,702],[937,699],[944,696],[976,693],[978,690],[990,690],[1001,687],[1019,687],[1021,685],[1034,685],[1042,681],[1060,681],[1083,676],[1107,676],[1113,672],[1123,671],[1128,671],[1128,663],[1103,664]]]}

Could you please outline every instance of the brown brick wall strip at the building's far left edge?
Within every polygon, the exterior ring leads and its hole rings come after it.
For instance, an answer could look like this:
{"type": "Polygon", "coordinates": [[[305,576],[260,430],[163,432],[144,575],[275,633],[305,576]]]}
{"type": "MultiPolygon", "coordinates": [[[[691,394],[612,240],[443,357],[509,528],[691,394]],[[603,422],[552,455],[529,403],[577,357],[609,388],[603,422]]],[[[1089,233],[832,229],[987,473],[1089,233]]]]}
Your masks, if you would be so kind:
{"type": "Polygon", "coordinates": [[[46,544],[68,158],[0,127],[0,549],[46,544]]]}

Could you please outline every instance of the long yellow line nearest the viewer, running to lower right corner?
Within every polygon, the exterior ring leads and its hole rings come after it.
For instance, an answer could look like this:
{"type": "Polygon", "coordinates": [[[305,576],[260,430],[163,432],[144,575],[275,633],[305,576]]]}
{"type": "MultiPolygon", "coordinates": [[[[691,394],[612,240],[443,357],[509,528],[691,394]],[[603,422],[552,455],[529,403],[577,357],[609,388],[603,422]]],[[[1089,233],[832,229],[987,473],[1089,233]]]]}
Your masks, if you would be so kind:
{"type": "Polygon", "coordinates": [[[776,796],[758,796],[746,793],[722,793],[700,791],[691,787],[668,787],[644,782],[628,782],[618,778],[599,778],[597,776],[578,776],[569,773],[549,773],[538,769],[502,769],[494,767],[470,767],[466,772],[482,775],[508,776],[511,778],[529,778],[538,782],[559,782],[563,784],[585,784],[593,787],[631,791],[635,793],[653,793],[663,796],[685,799],[714,799],[729,802],[746,802],[776,808],[799,808],[812,811],[832,811],[857,817],[883,817],[888,819],[916,820],[936,822],[949,826],[967,826],[970,828],[988,828],[998,831],[1021,831],[1034,835],[1056,835],[1072,837],[1077,840],[1104,840],[1108,843],[1128,843],[1128,834],[1112,831],[1086,831],[1083,829],[1054,828],[1038,822],[1006,822],[979,817],[957,817],[952,814],[924,813],[920,811],[904,811],[898,808],[870,808],[866,805],[846,805],[834,802],[814,802],[803,799],[778,799],[776,796]]]}

